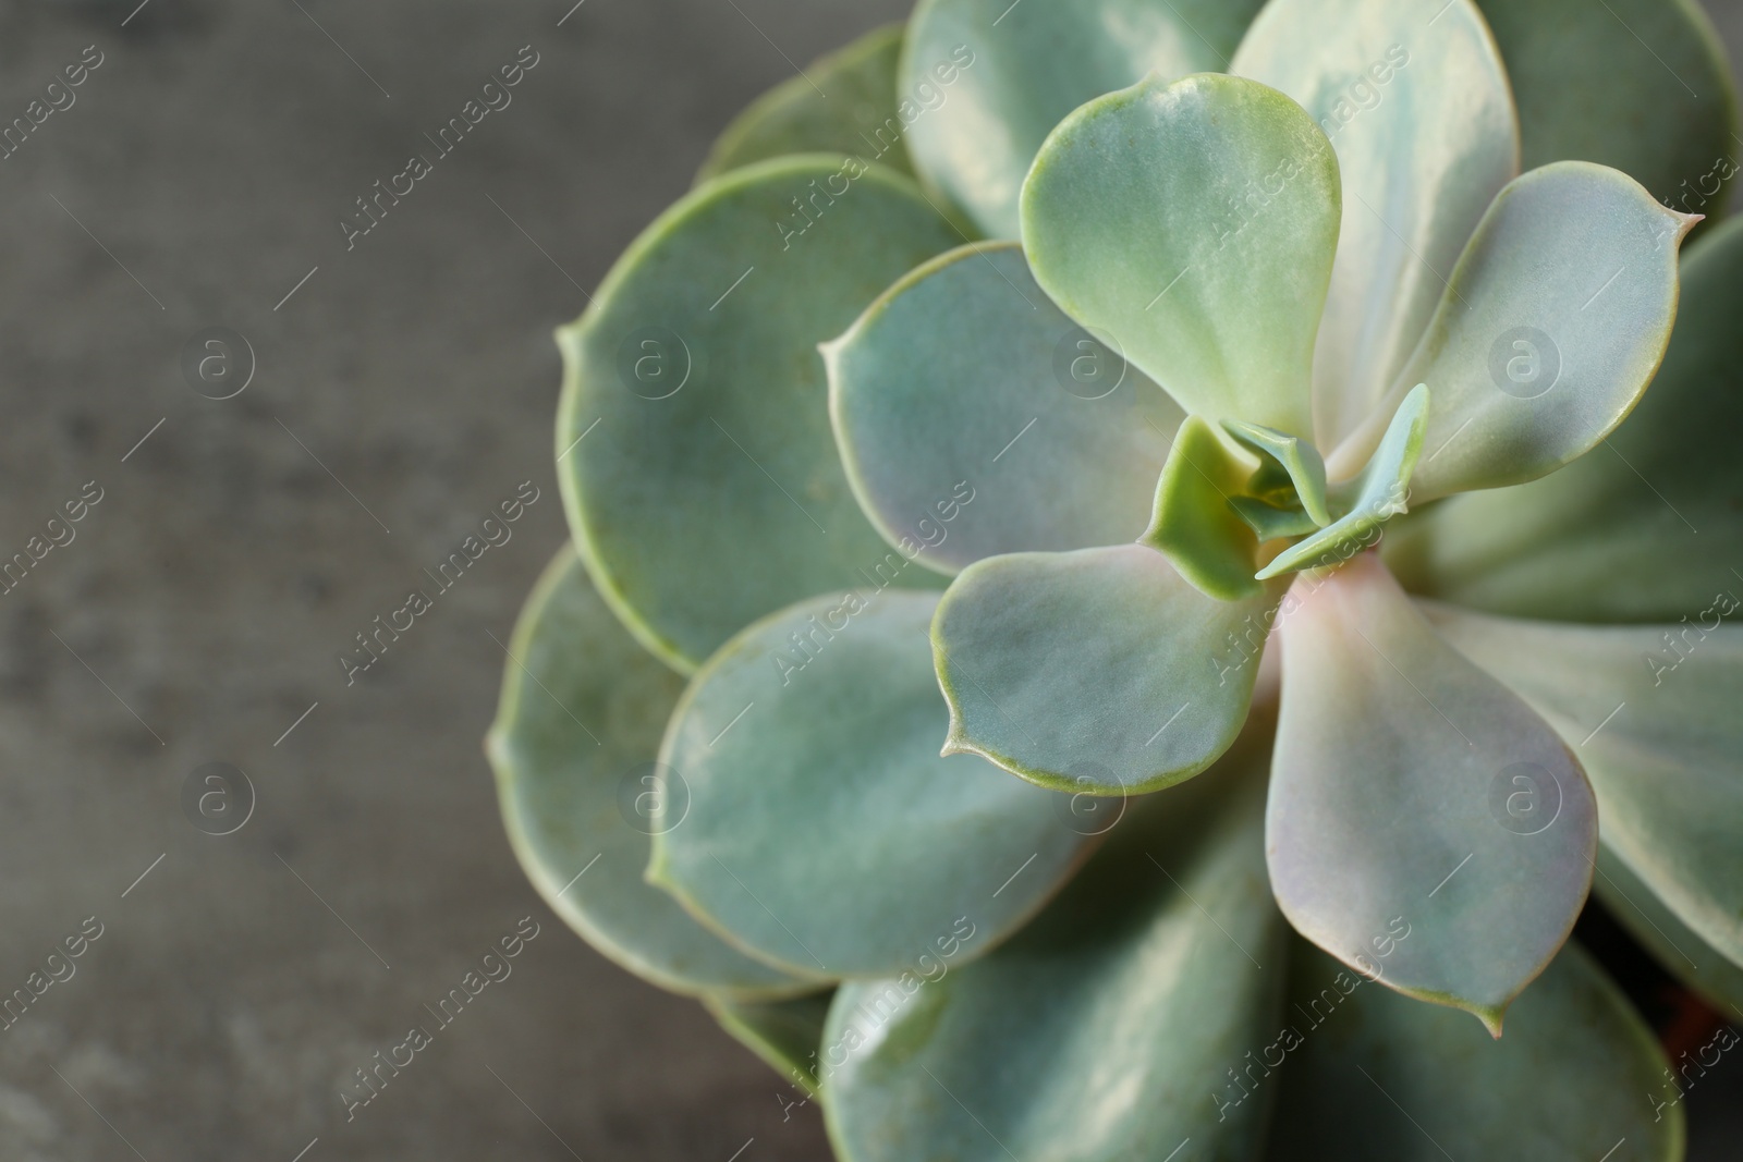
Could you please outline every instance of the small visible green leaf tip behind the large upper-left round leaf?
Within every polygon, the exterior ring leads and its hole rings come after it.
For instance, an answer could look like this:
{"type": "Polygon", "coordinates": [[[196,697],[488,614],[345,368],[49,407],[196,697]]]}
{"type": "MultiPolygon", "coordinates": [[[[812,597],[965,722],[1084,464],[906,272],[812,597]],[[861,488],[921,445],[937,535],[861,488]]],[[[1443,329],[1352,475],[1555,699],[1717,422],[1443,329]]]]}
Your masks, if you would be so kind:
{"type": "Polygon", "coordinates": [[[901,24],[875,28],[762,94],[725,127],[697,185],[788,153],[852,153],[913,172],[896,99],[901,24]]]}

